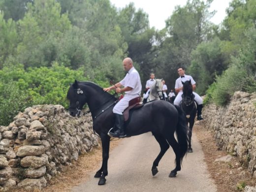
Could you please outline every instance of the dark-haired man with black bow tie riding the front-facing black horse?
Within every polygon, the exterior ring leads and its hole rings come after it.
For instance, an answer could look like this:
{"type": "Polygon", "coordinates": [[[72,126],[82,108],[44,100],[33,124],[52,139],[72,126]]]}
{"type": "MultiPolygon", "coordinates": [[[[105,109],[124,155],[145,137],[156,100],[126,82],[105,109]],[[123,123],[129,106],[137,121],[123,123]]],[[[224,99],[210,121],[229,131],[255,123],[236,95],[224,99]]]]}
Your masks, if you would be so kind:
{"type": "MultiPolygon", "coordinates": [[[[192,89],[195,90],[195,81],[193,80],[192,76],[185,75],[185,70],[183,67],[178,68],[178,74],[180,77],[176,79],[175,82],[175,92],[178,94],[174,100],[175,105],[179,105],[182,101],[182,94],[183,94],[183,85],[182,82],[191,80],[192,89]]],[[[202,108],[203,108],[203,99],[195,92],[193,92],[194,100],[196,101],[197,105],[197,120],[203,120],[202,118],[202,108]]]]}

